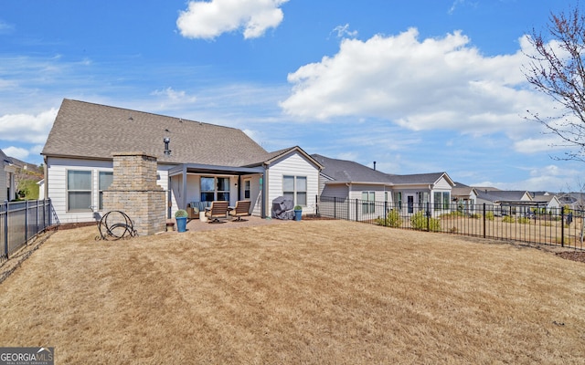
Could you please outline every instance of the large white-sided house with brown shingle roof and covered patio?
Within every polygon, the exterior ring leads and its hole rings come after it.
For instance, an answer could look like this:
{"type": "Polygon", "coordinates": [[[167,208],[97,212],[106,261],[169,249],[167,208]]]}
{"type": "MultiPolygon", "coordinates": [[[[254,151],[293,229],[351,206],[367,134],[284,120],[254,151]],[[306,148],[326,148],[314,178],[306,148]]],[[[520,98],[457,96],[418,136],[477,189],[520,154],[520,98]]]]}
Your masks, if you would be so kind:
{"type": "Polygon", "coordinates": [[[305,212],[315,206],[322,166],[298,146],[268,152],[235,128],[64,99],[42,151],[44,196],[60,222],[103,213],[112,153],[125,151],[157,158],[168,217],[187,203],[214,200],[250,200],[251,213],[262,217],[281,195],[305,212]]]}

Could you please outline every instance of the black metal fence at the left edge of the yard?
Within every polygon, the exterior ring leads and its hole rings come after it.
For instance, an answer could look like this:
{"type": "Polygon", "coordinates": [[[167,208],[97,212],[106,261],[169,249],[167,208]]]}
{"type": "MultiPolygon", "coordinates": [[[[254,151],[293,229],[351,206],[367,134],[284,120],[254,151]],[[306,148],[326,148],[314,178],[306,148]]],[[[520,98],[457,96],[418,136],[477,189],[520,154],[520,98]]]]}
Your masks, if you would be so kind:
{"type": "Polygon", "coordinates": [[[53,221],[50,199],[0,203],[0,263],[53,221]]]}

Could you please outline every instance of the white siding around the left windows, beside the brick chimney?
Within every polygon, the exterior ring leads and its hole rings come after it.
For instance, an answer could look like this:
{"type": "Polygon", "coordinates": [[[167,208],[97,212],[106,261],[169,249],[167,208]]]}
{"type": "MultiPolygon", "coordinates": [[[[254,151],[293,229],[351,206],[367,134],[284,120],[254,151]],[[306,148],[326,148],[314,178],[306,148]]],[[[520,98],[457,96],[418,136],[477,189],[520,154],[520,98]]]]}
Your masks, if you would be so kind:
{"type": "MultiPolygon", "coordinates": [[[[161,166],[163,167],[163,166],[161,166]]],[[[157,172],[156,183],[167,189],[168,173],[165,170],[157,172]]],[[[104,212],[68,212],[67,211],[67,172],[69,170],[91,172],[91,205],[97,210],[99,203],[99,172],[112,172],[112,161],[93,161],[63,158],[47,159],[48,198],[51,199],[55,213],[60,223],[92,222],[101,219],[104,212]]]]}

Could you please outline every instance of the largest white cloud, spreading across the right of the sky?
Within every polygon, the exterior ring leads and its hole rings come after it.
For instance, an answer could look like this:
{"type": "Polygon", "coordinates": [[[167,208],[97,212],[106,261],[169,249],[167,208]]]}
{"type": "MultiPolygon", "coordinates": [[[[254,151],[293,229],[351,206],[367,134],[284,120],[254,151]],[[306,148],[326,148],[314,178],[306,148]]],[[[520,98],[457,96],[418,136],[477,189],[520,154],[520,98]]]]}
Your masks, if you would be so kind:
{"type": "Polygon", "coordinates": [[[527,89],[523,51],[484,57],[469,42],[459,31],[420,41],[415,28],[344,39],[335,56],[289,74],[292,94],[280,105],[305,120],[370,117],[410,130],[533,134],[526,110],[553,108],[527,89]]]}

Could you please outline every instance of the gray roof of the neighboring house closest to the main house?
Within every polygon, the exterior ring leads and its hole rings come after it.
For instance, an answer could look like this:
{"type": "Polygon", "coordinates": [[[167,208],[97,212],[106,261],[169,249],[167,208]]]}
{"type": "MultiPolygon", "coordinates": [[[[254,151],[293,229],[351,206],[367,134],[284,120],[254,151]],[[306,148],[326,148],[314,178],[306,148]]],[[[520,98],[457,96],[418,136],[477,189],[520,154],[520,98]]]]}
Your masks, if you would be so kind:
{"type": "Polygon", "coordinates": [[[385,183],[390,184],[388,174],[361,163],[337,160],[320,154],[312,155],[323,166],[321,173],[335,183],[385,183]]]}

